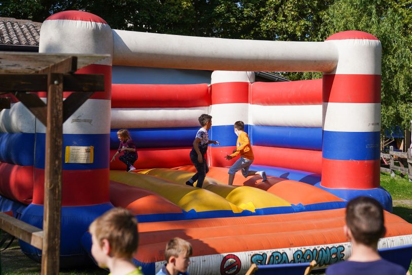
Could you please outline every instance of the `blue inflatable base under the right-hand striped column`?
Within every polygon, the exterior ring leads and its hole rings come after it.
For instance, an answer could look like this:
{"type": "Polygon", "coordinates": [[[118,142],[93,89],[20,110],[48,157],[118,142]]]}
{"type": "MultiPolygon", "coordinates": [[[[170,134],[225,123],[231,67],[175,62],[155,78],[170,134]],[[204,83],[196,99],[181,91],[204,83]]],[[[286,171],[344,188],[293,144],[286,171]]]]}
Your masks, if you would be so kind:
{"type": "Polygon", "coordinates": [[[379,201],[386,211],[392,213],[391,194],[383,187],[372,189],[332,189],[323,187],[320,183],[315,184],[315,186],[347,201],[360,196],[372,197],[379,201]]]}

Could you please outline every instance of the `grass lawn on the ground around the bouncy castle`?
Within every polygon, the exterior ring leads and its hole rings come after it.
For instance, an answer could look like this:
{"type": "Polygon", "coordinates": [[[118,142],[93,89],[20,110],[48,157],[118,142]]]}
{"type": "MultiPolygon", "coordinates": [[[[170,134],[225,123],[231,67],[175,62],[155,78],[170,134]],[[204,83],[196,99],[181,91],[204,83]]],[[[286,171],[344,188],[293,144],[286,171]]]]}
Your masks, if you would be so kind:
{"type": "MultiPolygon", "coordinates": [[[[389,174],[381,173],[381,186],[389,191],[393,199],[393,213],[409,223],[412,223],[412,183],[396,174],[392,178],[389,174]]],[[[0,237],[1,238],[1,237],[0,237]]],[[[1,253],[1,268],[4,275],[37,275],[41,266],[39,263],[26,257],[20,250],[17,240],[1,253]]],[[[412,273],[412,264],[409,267],[412,273]]],[[[109,272],[90,266],[61,270],[62,275],[107,275],[109,272]]],[[[324,274],[316,272],[316,274],[324,274]]]]}

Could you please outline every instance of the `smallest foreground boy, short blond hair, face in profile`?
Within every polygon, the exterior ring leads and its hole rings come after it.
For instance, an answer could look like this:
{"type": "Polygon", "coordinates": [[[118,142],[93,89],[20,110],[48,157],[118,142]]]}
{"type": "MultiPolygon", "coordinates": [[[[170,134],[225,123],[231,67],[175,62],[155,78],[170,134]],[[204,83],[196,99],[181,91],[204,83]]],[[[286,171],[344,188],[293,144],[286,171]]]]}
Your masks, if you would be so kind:
{"type": "Polygon", "coordinates": [[[189,257],[192,255],[192,246],[182,238],[169,240],[164,251],[167,261],[156,275],[189,275],[187,268],[190,264],[189,257]]]}

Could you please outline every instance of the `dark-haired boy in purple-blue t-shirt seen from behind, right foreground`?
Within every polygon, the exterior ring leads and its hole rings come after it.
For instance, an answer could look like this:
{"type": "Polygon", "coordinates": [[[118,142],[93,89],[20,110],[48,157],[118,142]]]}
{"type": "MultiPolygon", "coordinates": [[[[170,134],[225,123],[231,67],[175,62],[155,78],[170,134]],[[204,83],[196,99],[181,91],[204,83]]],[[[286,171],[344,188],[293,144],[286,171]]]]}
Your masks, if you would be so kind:
{"type": "Polygon", "coordinates": [[[381,258],[377,241],[385,235],[382,205],[371,197],[357,197],[346,207],[345,235],[351,241],[348,261],[330,265],[326,275],[405,275],[406,270],[381,258]]]}

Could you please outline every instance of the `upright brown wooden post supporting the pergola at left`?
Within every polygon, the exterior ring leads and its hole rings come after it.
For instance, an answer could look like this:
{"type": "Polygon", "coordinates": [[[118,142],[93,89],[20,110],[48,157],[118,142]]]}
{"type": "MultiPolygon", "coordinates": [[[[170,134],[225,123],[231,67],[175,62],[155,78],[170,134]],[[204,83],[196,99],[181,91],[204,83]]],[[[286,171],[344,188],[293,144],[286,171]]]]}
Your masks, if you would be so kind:
{"type": "Polygon", "coordinates": [[[59,272],[62,140],[63,75],[51,73],[47,92],[42,275],[59,272]]]}

